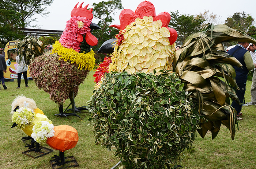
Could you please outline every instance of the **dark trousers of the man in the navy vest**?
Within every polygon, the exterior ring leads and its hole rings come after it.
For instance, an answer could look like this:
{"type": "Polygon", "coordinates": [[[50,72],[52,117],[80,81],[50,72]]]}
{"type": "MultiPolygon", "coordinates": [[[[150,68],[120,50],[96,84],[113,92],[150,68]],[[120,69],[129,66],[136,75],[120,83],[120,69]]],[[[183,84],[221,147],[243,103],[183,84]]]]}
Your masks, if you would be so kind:
{"type": "Polygon", "coordinates": [[[246,83],[237,83],[237,86],[239,87],[240,90],[237,90],[236,94],[237,94],[239,101],[241,102],[241,105],[237,104],[236,101],[233,101],[231,106],[234,107],[234,109],[236,109],[237,114],[238,114],[242,110],[242,103],[244,102],[246,83]]]}

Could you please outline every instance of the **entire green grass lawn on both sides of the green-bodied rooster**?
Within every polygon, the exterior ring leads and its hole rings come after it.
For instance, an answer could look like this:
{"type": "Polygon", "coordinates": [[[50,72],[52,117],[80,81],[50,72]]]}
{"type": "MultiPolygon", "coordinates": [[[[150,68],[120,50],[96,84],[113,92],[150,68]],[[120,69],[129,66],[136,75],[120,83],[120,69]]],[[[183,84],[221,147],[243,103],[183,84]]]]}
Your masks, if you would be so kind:
{"type": "MultiPolygon", "coordinates": [[[[78,96],[75,98],[77,107],[86,106],[87,101],[93,94],[94,77],[93,71],[79,87],[78,96]]],[[[29,87],[25,88],[24,80],[21,89],[16,89],[17,81],[6,82],[7,90],[0,90],[0,168],[3,169],[50,169],[50,160],[59,151],[39,158],[31,158],[22,154],[27,149],[20,138],[26,136],[22,130],[11,128],[11,103],[18,95],[25,95],[34,99],[37,107],[53,121],[53,125],[70,125],[75,127],[79,134],[79,141],[75,148],[67,150],[65,156],[74,156],[80,169],[110,169],[119,159],[114,157],[101,145],[95,145],[93,125],[87,120],[90,115],[87,111],[78,113],[81,118],[69,116],[68,118],[57,117],[58,106],[49,99],[49,94],[39,90],[33,80],[29,80],[29,87]]],[[[245,101],[251,101],[251,81],[247,82],[245,101]]],[[[64,103],[64,109],[69,100],[64,103]]],[[[180,165],[183,169],[255,169],[256,168],[256,108],[255,106],[242,107],[242,121],[239,121],[239,131],[234,140],[231,140],[229,130],[222,125],[218,136],[212,140],[211,134],[207,133],[202,139],[198,134],[193,142],[193,148],[185,150],[180,165]]],[[[48,145],[44,145],[50,148],[48,145]]]]}

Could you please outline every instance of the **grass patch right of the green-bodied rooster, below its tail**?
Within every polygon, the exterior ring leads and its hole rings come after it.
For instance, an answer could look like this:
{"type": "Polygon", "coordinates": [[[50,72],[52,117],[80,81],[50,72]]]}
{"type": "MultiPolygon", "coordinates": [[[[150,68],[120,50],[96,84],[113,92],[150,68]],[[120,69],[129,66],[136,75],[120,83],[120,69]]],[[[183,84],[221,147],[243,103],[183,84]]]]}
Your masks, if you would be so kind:
{"type": "MultiPolygon", "coordinates": [[[[251,101],[251,84],[247,81],[245,102],[251,101]]],[[[238,121],[234,140],[222,125],[218,136],[211,139],[208,132],[204,139],[198,134],[193,148],[185,150],[181,165],[185,169],[255,169],[256,168],[256,108],[242,107],[242,120],[238,121]]]]}

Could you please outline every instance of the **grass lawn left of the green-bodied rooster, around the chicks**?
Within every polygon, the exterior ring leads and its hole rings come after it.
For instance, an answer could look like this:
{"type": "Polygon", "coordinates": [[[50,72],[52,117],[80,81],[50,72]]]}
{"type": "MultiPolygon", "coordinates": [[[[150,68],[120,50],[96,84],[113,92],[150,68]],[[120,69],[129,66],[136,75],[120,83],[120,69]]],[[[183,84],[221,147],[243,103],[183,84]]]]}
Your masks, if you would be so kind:
{"type": "MultiPolygon", "coordinates": [[[[93,71],[90,72],[88,78],[79,87],[79,93],[75,98],[77,107],[87,106],[87,101],[93,94],[93,71]]],[[[74,156],[79,164],[80,169],[110,169],[119,159],[114,157],[113,152],[108,151],[106,148],[95,145],[93,125],[89,125],[87,120],[90,115],[87,111],[78,113],[81,118],[76,116],[69,116],[68,118],[54,116],[59,113],[58,105],[49,99],[49,94],[43,90],[39,90],[33,80],[29,80],[29,87],[25,87],[24,80],[21,81],[21,89],[16,89],[17,80],[14,82],[5,82],[8,87],[4,90],[1,86],[0,90],[0,168],[1,169],[49,169],[51,168],[50,160],[54,155],[59,155],[59,151],[54,150],[43,157],[31,158],[22,152],[24,148],[20,138],[26,136],[22,130],[11,128],[11,103],[18,95],[25,95],[28,98],[34,99],[37,107],[41,109],[44,114],[53,121],[53,125],[70,125],[75,127],[78,131],[79,141],[75,148],[65,151],[65,157],[74,156]]],[[[66,100],[63,108],[69,105],[70,101],[66,100]]],[[[50,148],[47,144],[43,145],[50,148]]],[[[50,148],[52,149],[52,148],[50,148]]]]}

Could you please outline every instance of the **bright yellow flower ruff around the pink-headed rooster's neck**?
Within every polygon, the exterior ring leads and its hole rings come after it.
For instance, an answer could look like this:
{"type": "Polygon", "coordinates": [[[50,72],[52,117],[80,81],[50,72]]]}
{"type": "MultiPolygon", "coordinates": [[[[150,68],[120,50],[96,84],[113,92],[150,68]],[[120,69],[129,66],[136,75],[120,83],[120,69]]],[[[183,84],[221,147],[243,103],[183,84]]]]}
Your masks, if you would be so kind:
{"type": "Polygon", "coordinates": [[[89,53],[78,53],[72,48],[66,48],[61,46],[59,41],[53,44],[53,53],[57,53],[60,59],[65,62],[71,60],[71,63],[76,63],[78,67],[82,70],[93,70],[95,65],[94,51],[91,50],[89,53]]]}

